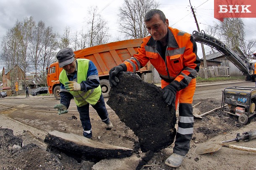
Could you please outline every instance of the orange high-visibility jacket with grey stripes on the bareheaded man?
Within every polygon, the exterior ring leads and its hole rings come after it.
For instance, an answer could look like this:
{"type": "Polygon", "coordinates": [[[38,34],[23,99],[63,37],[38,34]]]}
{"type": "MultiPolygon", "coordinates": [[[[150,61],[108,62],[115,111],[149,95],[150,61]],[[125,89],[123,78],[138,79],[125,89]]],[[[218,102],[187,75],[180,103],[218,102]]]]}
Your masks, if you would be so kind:
{"type": "Polygon", "coordinates": [[[152,36],[147,36],[143,38],[138,53],[124,63],[127,66],[127,71],[135,72],[150,61],[163,80],[175,83],[180,90],[187,87],[191,79],[196,78],[200,59],[196,55],[196,42],[189,33],[168,28],[165,61],[157,51],[159,42],[155,41],[152,36]]]}

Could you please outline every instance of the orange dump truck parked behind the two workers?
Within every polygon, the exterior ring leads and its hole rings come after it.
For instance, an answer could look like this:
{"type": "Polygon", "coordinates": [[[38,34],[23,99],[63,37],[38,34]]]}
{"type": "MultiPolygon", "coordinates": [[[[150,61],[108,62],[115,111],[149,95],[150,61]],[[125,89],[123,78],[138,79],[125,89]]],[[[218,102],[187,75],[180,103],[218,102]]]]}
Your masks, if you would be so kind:
{"type": "MultiPolygon", "coordinates": [[[[142,38],[125,41],[117,41],[113,43],[102,44],[84,48],[75,51],[76,58],[87,58],[91,60],[97,67],[99,73],[99,82],[102,89],[102,94],[106,98],[110,91],[109,71],[125,60],[131,58],[133,54],[137,53],[138,47],[141,45],[142,38]]],[[[60,81],[59,75],[62,68],[59,68],[58,62],[52,63],[47,68],[47,84],[50,94],[54,94],[56,99],[60,99],[60,81]]],[[[149,62],[146,66],[141,68],[137,73],[151,73],[153,66],[149,62]]]]}

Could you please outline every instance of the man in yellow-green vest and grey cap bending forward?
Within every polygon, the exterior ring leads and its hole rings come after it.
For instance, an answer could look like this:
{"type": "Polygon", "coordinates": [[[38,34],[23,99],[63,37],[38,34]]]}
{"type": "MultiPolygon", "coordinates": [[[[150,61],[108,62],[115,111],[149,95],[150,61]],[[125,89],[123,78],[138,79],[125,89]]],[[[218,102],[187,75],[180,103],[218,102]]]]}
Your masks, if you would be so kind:
{"type": "Polygon", "coordinates": [[[89,117],[89,104],[97,111],[107,129],[112,129],[109,115],[99,85],[98,71],[94,63],[88,59],[76,59],[71,48],[63,48],[57,53],[60,73],[60,104],[55,105],[58,114],[68,113],[72,98],[84,129],[83,135],[91,139],[91,121],[89,117]]]}

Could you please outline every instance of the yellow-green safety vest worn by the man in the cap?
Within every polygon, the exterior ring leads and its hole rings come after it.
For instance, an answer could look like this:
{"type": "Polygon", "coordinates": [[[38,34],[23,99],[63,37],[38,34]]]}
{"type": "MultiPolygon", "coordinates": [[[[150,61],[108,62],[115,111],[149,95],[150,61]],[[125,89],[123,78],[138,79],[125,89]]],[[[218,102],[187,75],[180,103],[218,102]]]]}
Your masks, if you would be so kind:
{"type": "MultiPolygon", "coordinates": [[[[89,60],[88,59],[77,59],[77,78],[73,81],[77,83],[81,83],[82,81],[86,81],[87,79],[87,71],[89,67],[89,60]]],[[[63,69],[60,72],[59,76],[60,83],[65,84],[65,82],[69,81],[66,71],[63,69]]],[[[101,87],[100,85],[88,91],[68,91],[74,96],[75,103],[78,107],[84,106],[85,104],[89,103],[94,105],[99,100],[101,95],[101,87]]]]}

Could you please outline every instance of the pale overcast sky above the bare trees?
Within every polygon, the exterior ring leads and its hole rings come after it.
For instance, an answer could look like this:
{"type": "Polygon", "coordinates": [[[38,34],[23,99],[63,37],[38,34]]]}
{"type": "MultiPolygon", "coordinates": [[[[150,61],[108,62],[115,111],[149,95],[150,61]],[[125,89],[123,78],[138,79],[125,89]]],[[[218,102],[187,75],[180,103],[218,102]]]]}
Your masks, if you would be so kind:
{"type": "MultiPolygon", "coordinates": [[[[169,20],[169,26],[193,33],[197,30],[189,0],[159,0],[159,9],[169,20]]],[[[33,16],[35,21],[42,20],[46,26],[63,34],[65,27],[71,31],[80,30],[86,23],[86,13],[90,6],[98,7],[99,14],[108,22],[113,39],[118,33],[118,8],[123,0],[0,0],[0,41],[15,22],[33,16]]],[[[196,11],[200,30],[218,20],[214,18],[214,0],[191,0],[196,11]]],[[[256,18],[244,18],[247,39],[256,38],[256,18]]],[[[202,58],[201,45],[198,43],[198,56],[202,58]]],[[[0,61],[0,70],[5,66],[0,61]]]]}

